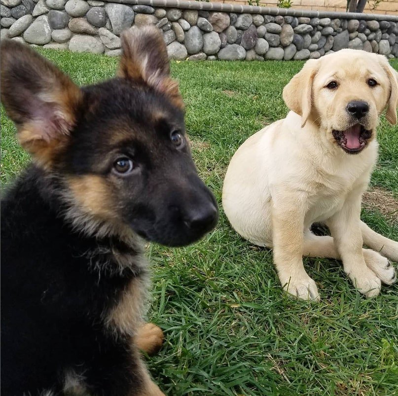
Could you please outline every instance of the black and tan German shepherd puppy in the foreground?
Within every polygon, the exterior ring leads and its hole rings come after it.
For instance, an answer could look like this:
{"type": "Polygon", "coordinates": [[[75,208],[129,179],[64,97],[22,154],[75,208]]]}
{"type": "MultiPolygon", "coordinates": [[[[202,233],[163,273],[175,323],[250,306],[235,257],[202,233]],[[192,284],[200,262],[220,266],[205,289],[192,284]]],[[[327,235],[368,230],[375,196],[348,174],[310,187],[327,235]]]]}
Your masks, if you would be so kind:
{"type": "Polygon", "coordinates": [[[2,395],[163,395],[139,354],[162,343],[143,242],[192,243],[218,211],[161,34],[121,42],[117,76],[81,88],[1,43],[1,100],[33,157],[1,201],[2,395]]]}

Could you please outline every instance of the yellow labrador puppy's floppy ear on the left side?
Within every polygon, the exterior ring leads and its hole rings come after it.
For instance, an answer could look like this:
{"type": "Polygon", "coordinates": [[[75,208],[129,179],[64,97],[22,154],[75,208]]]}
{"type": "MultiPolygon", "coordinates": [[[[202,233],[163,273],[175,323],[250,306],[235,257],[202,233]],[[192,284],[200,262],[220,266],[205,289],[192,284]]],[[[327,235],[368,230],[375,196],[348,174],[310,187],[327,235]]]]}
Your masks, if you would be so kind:
{"type": "Polygon", "coordinates": [[[283,90],[283,99],[288,108],[301,115],[301,128],[311,113],[312,83],[317,71],[318,60],[308,60],[283,90]]]}

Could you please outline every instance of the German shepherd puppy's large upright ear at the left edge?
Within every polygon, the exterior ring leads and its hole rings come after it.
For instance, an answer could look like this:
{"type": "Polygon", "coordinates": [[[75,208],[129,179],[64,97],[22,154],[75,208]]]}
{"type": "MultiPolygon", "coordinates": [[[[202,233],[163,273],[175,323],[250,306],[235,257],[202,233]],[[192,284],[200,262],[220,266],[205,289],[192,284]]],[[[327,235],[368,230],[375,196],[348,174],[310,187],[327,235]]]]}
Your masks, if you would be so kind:
{"type": "Polygon", "coordinates": [[[27,45],[3,40],[0,50],[1,102],[16,124],[22,147],[47,162],[75,123],[81,91],[27,45]]]}

